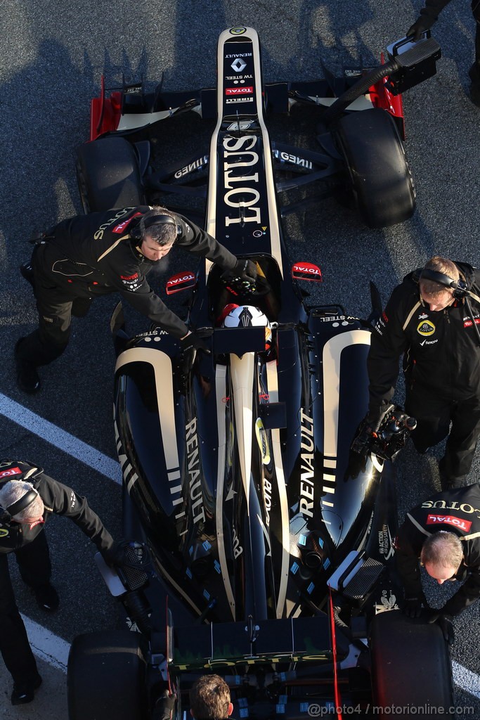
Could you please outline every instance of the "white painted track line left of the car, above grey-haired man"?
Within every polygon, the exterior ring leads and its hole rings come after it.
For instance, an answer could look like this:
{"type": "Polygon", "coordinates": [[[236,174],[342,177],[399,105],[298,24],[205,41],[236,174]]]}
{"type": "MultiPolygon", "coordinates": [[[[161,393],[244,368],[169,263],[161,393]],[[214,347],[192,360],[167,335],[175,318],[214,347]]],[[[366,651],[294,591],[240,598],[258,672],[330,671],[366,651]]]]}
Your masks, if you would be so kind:
{"type": "Polygon", "coordinates": [[[42,440],[47,441],[47,443],[59,450],[97,470],[105,477],[109,477],[110,480],[122,485],[122,470],[117,460],[113,460],[99,450],[78,440],[74,435],[65,432],[65,430],[50,423],[45,418],[41,418],[40,415],[32,413],[32,410],[27,410],[19,402],[11,400],[1,392],[0,414],[22,426],[22,428],[26,428],[31,433],[35,433],[42,440]]]}

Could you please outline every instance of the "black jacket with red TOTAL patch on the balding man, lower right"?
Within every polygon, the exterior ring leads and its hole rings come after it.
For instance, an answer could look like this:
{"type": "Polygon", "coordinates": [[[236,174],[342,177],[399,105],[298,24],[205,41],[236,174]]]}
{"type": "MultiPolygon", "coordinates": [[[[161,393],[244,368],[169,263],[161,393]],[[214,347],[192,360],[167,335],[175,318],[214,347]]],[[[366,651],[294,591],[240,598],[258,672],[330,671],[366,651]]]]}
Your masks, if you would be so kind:
{"type": "Polygon", "coordinates": [[[420,552],[425,538],[439,530],[456,534],[463,545],[463,563],[456,580],[465,580],[445,603],[443,612],[458,615],[480,598],[480,485],[437,492],[405,516],[395,541],[397,568],[406,597],[422,592],[420,552]]]}

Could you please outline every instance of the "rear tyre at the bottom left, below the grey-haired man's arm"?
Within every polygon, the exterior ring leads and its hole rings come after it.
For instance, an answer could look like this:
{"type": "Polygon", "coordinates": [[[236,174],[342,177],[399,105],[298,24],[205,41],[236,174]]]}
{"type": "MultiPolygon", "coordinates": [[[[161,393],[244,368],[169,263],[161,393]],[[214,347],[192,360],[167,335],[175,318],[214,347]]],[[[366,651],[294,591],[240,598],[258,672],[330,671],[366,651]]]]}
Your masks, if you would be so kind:
{"type": "Polygon", "coordinates": [[[68,656],[68,720],[144,720],[145,661],[139,634],[79,635],[68,656]]]}

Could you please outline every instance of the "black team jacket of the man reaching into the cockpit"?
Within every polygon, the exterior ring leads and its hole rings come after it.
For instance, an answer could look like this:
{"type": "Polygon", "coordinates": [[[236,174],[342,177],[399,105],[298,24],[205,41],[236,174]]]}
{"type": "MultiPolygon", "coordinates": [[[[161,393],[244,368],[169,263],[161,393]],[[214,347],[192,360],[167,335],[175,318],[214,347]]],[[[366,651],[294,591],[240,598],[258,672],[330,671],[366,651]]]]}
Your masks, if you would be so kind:
{"type": "MultiPolygon", "coordinates": [[[[181,338],[188,332],[186,324],[168,310],[146,279],[161,260],[145,258],[137,248],[139,241],[130,237],[148,210],[148,206],[124,207],[63,220],[50,230],[52,237],[41,246],[37,263],[47,284],[53,282],[74,297],[120,292],[135,310],[181,338]]],[[[182,215],[171,215],[178,227],[176,245],[224,269],[235,266],[235,255],[211,235],[182,215]]]]}

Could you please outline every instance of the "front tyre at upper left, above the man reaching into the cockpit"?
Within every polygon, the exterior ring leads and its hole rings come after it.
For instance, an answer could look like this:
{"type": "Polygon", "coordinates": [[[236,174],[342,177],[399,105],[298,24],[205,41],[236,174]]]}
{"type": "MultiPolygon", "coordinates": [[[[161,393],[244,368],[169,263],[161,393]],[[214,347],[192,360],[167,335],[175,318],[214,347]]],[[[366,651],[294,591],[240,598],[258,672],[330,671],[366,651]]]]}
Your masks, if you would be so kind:
{"type": "Polygon", "coordinates": [[[76,172],[83,212],[145,202],[137,156],[124,138],[102,138],[81,145],[76,172]]]}

